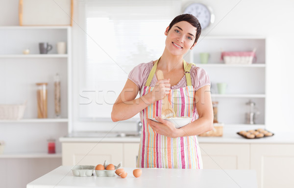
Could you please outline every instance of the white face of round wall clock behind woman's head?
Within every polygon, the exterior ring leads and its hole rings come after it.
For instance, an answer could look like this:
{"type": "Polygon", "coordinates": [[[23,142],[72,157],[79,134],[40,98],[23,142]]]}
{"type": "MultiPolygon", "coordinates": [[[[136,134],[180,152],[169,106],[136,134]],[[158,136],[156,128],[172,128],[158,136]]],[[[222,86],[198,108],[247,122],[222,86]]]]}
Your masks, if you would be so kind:
{"type": "Polygon", "coordinates": [[[201,25],[201,28],[206,28],[210,23],[212,23],[212,15],[207,6],[201,3],[192,3],[188,5],[184,14],[192,14],[195,16],[201,25]]]}

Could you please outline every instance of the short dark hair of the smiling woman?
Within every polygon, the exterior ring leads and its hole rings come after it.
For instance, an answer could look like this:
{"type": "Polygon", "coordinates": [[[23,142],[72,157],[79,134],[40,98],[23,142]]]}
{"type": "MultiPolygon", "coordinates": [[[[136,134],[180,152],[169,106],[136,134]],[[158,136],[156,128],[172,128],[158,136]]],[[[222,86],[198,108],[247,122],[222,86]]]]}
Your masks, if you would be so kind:
{"type": "Polygon", "coordinates": [[[194,41],[194,44],[195,44],[198,41],[200,34],[201,34],[201,25],[200,25],[198,19],[195,16],[193,16],[192,14],[181,14],[181,15],[176,16],[172,20],[171,24],[169,25],[170,27],[169,27],[168,31],[171,30],[171,28],[174,24],[182,22],[182,21],[188,22],[189,24],[191,24],[197,28],[196,37],[195,37],[195,41],[194,41]]]}

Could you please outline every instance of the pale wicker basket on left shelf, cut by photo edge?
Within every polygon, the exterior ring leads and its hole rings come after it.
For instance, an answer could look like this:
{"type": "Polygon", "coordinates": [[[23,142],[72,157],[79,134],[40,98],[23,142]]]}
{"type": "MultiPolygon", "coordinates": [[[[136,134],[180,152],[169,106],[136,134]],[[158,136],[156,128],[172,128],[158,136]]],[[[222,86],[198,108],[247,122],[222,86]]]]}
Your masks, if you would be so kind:
{"type": "Polygon", "coordinates": [[[18,120],[24,117],[24,104],[0,104],[0,119],[18,120]]]}

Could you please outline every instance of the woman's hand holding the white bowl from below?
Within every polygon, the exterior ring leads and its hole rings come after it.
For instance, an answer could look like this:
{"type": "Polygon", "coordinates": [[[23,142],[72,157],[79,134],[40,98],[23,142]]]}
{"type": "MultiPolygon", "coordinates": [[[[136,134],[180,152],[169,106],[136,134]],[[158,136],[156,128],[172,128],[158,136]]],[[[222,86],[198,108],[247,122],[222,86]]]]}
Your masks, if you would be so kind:
{"type": "Polygon", "coordinates": [[[178,129],[174,127],[174,124],[168,120],[165,120],[160,117],[155,117],[155,119],[159,122],[152,121],[151,119],[147,119],[150,127],[158,134],[164,135],[166,137],[177,138],[178,129]]]}

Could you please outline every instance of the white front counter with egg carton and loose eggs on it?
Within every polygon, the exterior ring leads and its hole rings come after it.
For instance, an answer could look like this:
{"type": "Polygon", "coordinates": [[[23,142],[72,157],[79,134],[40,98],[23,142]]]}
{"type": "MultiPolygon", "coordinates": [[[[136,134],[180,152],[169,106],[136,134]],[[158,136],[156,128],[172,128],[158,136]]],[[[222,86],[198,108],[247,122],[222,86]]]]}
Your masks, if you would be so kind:
{"type": "Polygon", "coordinates": [[[142,168],[142,176],[135,178],[133,169],[124,168],[126,178],[76,177],[73,166],[59,166],[48,174],[27,184],[26,188],[257,188],[254,170],[204,170],[142,168]]]}

